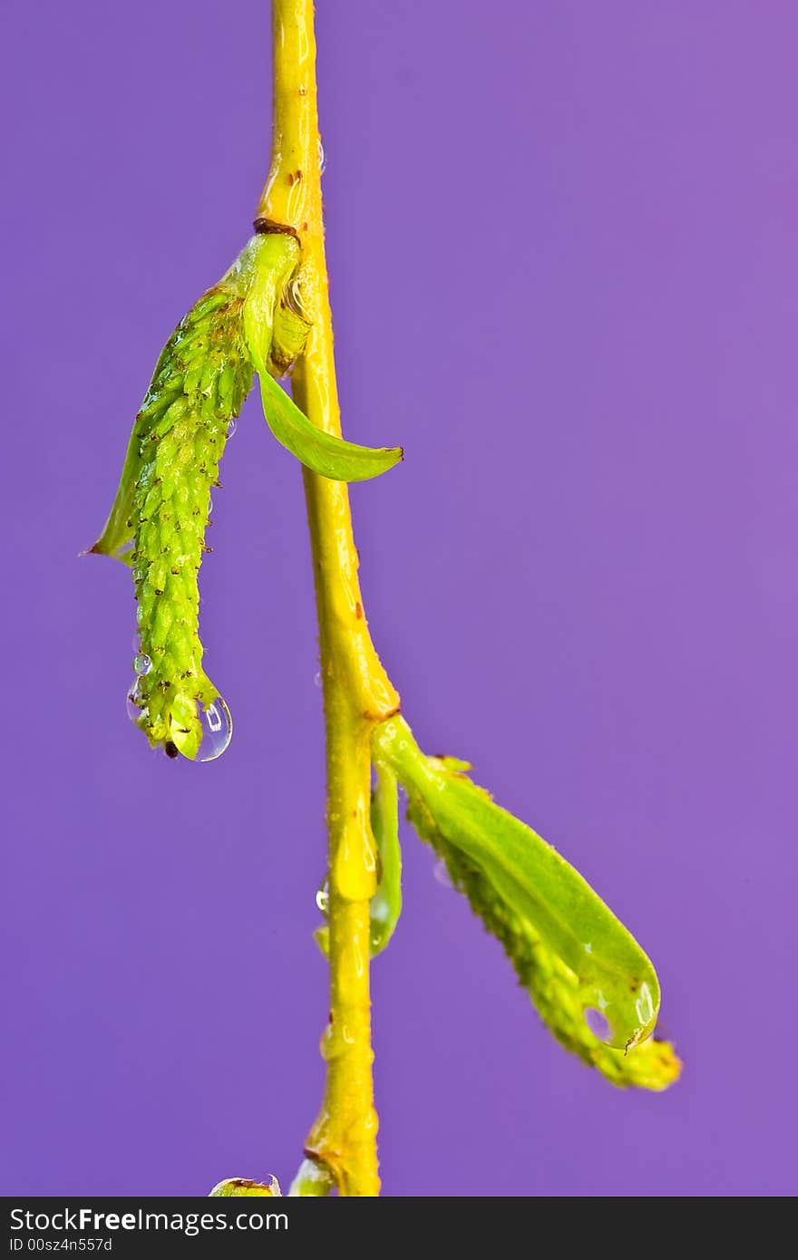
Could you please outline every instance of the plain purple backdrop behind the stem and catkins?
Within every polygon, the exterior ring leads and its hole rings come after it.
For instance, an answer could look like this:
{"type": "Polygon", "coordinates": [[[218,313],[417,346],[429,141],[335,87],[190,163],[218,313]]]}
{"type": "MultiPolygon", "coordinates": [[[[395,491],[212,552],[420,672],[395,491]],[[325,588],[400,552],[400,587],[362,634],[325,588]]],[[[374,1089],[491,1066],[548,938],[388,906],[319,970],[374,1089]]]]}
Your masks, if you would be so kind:
{"type": "MultiPolygon", "coordinates": [[[[130,581],[76,558],[247,238],[269,6],[6,21],[0,1189],[287,1181],[323,1079],[323,745],[300,475],[257,401],[203,568],[222,761],[126,721],[130,581]]],[[[687,1063],[647,1096],[566,1056],[408,834],[385,1192],[790,1193],[798,8],[347,0],[319,40],[347,431],[407,451],[353,491],[376,640],[422,743],[639,935],[687,1063]]]]}

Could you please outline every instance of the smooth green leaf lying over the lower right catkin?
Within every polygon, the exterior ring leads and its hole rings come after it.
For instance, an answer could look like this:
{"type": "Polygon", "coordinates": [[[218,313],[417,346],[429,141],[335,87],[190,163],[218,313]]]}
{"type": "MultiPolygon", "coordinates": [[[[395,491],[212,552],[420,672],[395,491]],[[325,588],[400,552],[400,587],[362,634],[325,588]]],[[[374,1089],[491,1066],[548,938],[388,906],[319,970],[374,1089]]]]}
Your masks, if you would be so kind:
{"type": "Polygon", "coordinates": [[[425,756],[401,717],[378,727],[377,756],[407,790],[416,825],[475,867],[497,903],[528,925],[576,976],[604,1040],[632,1050],[654,1029],[659,983],[649,959],[577,871],[450,764],[425,756]]]}

